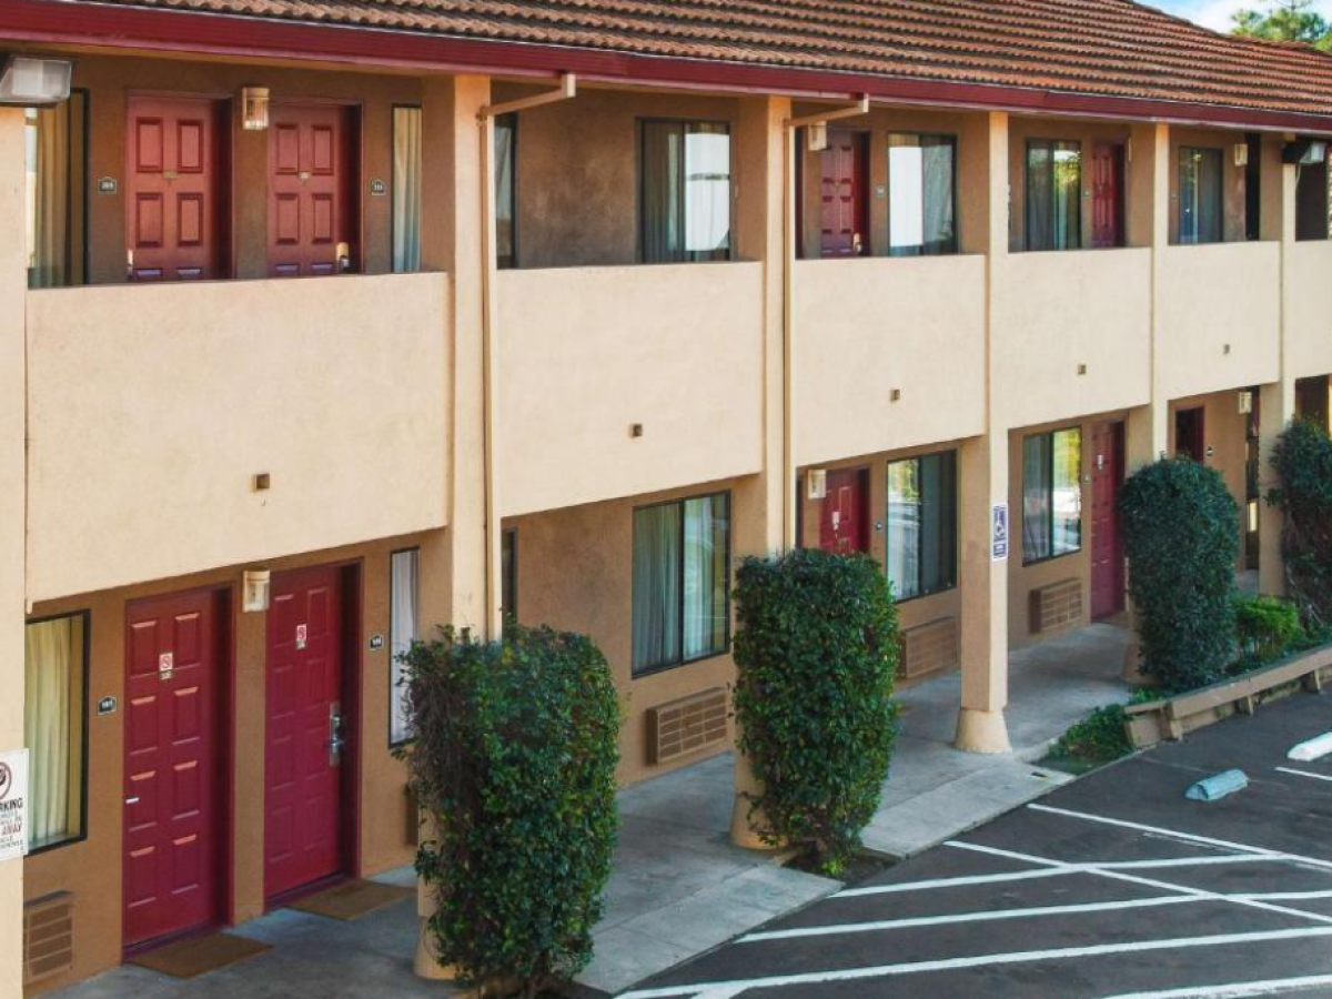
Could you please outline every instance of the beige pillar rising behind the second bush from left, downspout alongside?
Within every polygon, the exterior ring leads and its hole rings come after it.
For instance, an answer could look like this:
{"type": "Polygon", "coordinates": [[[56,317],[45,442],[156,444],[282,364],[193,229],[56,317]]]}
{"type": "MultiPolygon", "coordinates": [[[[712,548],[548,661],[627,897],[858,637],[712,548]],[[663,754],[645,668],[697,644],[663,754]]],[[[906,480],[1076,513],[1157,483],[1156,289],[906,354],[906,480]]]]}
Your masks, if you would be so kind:
{"type": "MultiPolygon", "coordinates": [[[[791,434],[791,376],[787,321],[794,246],[794,164],[785,139],[791,103],[785,97],[741,100],[735,166],[739,190],[735,250],[763,262],[763,470],[735,490],[737,555],[767,555],[795,543],[795,456],[791,434]]],[[[749,759],[735,754],[731,839],[753,850],[767,844],[750,821],[758,790],[749,759]]],[[[758,818],[758,817],[755,817],[758,818]]],[[[762,819],[758,818],[758,823],[762,819]]]]}

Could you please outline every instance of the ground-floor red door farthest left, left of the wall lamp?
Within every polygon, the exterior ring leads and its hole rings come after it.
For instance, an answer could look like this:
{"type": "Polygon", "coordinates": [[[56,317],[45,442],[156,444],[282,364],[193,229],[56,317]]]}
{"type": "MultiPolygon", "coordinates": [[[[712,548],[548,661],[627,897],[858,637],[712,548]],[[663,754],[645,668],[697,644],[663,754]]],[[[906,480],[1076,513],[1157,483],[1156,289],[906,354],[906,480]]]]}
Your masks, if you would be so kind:
{"type": "Polygon", "coordinates": [[[125,614],[127,950],[218,922],[220,599],[163,597],[125,614]]]}

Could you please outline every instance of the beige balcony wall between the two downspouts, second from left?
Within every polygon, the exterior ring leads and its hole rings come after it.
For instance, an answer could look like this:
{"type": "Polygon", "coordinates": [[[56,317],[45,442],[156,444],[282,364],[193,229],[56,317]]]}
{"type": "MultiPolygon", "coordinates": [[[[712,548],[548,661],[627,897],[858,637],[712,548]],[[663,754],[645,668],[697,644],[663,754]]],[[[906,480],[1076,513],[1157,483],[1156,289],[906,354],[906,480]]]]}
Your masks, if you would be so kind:
{"type": "Polygon", "coordinates": [[[759,264],[501,272],[503,514],[758,472],[762,273],[759,264]]]}

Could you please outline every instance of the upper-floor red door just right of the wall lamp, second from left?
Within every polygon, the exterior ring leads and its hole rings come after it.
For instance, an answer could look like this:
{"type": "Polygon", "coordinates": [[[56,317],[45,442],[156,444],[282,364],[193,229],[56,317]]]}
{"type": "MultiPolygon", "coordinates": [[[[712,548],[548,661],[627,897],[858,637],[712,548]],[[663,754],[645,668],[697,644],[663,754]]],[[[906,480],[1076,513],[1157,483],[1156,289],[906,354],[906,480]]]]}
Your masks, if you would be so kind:
{"type": "Polygon", "coordinates": [[[354,269],[361,217],[356,109],[274,104],[268,140],[268,264],[274,277],[354,269]]]}

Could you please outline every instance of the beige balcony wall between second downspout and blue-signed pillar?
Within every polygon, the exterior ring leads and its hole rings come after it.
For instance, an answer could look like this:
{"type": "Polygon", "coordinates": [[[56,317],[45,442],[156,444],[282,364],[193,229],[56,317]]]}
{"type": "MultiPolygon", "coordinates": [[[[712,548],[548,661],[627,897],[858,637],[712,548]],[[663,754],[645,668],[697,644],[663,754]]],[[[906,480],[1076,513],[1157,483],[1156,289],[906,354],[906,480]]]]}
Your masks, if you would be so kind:
{"type": "Polygon", "coordinates": [[[799,261],[798,464],[982,433],[984,292],[983,257],[799,261]]]}

